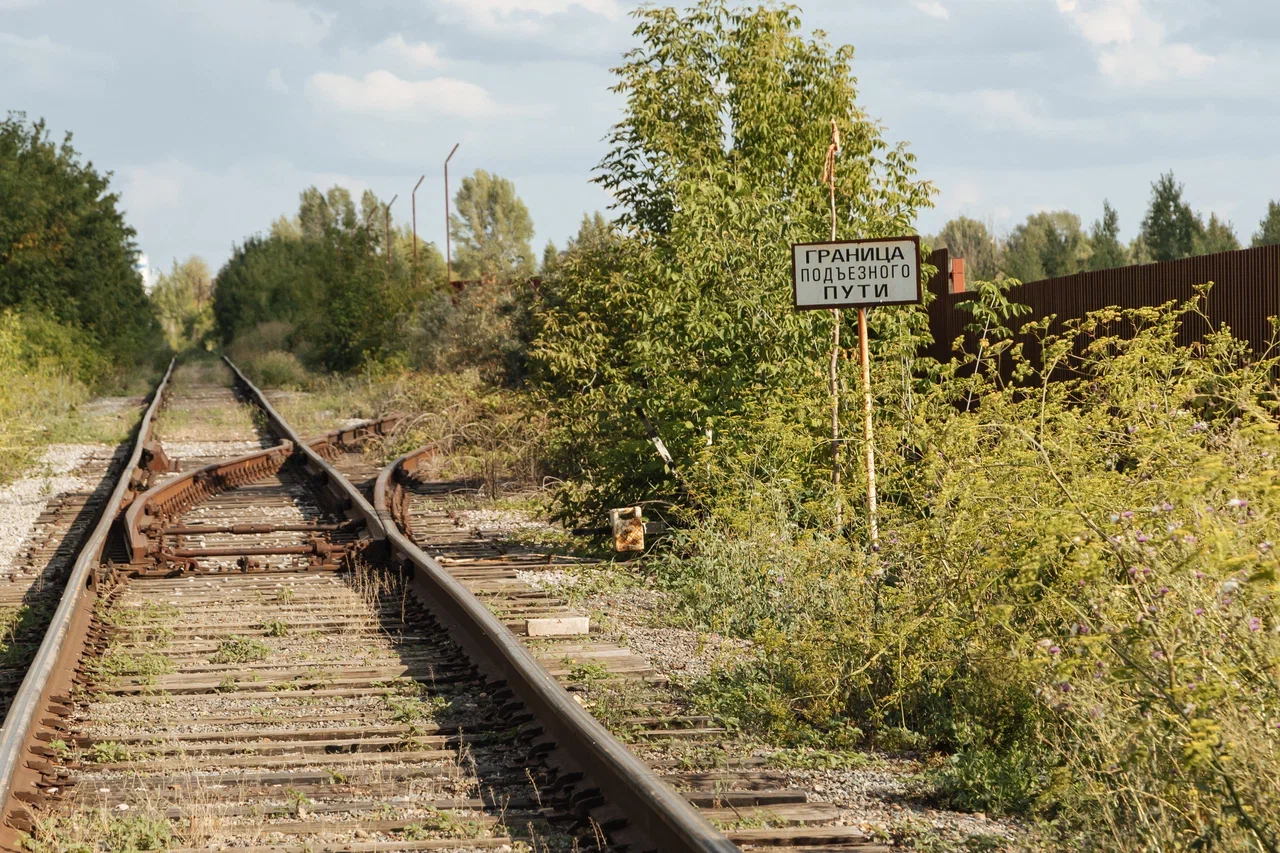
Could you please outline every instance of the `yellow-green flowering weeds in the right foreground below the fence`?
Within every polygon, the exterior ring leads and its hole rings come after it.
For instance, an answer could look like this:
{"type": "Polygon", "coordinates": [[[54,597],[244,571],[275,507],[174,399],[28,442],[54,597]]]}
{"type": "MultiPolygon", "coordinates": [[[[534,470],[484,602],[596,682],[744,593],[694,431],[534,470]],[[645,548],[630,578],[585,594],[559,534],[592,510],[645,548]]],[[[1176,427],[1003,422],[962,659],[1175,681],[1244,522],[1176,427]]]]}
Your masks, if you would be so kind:
{"type": "Polygon", "coordinates": [[[1087,378],[886,392],[878,551],[739,474],[654,569],[689,622],[755,640],[700,703],[791,747],[941,748],[952,804],[1080,845],[1275,850],[1276,361],[1178,346],[1197,310],[1103,313],[1079,359],[1046,338],[1044,373],[1087,378]]]}

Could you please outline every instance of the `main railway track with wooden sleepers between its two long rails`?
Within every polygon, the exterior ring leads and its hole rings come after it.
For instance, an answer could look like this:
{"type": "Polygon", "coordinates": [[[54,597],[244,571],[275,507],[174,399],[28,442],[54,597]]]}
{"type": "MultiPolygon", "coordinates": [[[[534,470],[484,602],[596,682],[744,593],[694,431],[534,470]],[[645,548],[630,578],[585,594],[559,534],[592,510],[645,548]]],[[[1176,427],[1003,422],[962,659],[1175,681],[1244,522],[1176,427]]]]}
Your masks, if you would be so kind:
{"type": "Polygon", "coordinates": [[[76,560],[0,847],[735,849],[388,529],[346,452],[385,423],[305,442],[228,366],[148,409],[76,560]],[[186,461],[134,494],[152,428],[186,461]]]}

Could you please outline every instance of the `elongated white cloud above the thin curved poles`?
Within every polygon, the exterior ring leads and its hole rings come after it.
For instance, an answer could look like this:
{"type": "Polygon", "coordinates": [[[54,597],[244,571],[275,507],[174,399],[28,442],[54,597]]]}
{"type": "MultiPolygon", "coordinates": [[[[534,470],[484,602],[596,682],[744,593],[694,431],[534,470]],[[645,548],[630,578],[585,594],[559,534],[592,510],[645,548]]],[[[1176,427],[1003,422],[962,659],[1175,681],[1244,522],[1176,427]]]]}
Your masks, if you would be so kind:
{"type": "Polygon", "coordinates": [[[323,72],[312,74],[307,95],[348,113],[397,118],[429,114],[483,118],[498,111],[489,92],[475,83],[452,77],[410,81],[389,70],[370,72],[360,79],[323,72]]]}

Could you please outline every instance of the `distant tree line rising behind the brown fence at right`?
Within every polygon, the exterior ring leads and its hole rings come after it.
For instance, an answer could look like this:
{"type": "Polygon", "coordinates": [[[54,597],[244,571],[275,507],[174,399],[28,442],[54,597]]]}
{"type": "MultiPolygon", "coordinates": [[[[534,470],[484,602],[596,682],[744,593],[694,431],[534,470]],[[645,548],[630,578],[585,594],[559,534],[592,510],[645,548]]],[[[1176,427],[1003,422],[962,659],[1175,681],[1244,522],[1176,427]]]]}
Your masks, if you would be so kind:
{"type": "MultiPolygon", "coordinates": [[[[1178,260],[1193,255],[1226,252],[1242,247],[1231,223],[1204,216],[1183,197],[1183,184],[1169,172],[1151,184],[1151,202],[1138,236],[1120,241],[1120,215],[1110,201],[1089,228],[1069,210],[1036,213],[998,237],[987,224],[957,216],[929,238],[965,259],[972,279],[1016,278],[1034,282],[1084,270],[1111,269],[1129,264],[1178,260]]],[[[1280,243],[1280,202],[1267,213],[1253,234],[1253,246],[1280,243]]]]}

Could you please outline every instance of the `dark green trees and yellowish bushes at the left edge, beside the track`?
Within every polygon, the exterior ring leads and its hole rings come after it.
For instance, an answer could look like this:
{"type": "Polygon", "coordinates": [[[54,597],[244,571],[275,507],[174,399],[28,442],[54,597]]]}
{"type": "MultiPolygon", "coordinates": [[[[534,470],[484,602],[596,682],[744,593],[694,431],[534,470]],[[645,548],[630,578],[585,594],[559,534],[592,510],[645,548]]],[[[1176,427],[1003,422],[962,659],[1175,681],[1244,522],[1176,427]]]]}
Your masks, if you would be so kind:
{"type": "Polygon", "coordinates": [[[0,482],[50,442],[99,439],[83,405],[141,393],[137,366],[155,366],[159,327],[110,177],[42,120],[0,122],[0,482]]]}

